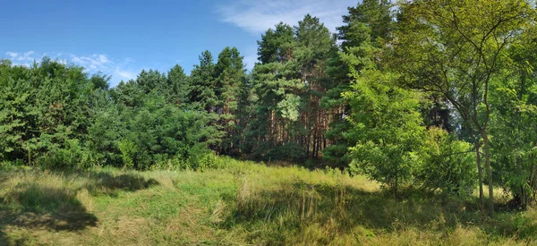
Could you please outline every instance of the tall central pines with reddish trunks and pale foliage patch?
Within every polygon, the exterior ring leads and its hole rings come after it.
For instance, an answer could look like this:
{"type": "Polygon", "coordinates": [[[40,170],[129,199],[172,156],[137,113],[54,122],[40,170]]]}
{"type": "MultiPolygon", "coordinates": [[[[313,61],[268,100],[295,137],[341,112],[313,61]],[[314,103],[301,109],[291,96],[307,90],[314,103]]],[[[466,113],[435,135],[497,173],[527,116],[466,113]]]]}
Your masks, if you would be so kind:
{"type": "MultiPolygon", "coordinates": [[[[336,40],[319,18],[306,14],[293,28],[279,23],[258,41],[258,59],[251,72],[242,151],[247,157],[268,159],[284,146],[300,146],[300,156],[320,158],[326,147],[329,115],[320,98],[331,87],[327,60],[336,40]]],[[[287,147],[285,147],[287,148],[287,147]]],[[[297,153],[298,154],[298,153],[297,153]]]]}

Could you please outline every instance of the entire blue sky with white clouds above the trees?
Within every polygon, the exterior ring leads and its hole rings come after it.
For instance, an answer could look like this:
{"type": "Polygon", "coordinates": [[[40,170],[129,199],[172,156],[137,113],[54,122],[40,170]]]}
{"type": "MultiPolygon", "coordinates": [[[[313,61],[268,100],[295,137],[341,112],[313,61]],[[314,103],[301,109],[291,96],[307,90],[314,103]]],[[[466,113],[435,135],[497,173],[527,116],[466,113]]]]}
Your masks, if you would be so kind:
{"type": "Polygon", "coordinates": [[[296,25],[307,13],[329,30],[358,0],[0,0],[0,59],[30,66],[43,56],[86,72],[135,79],[142,69],[190,73],[198,56],[237,47],[247,69],[257,40],[279,21],[296,25]]]}

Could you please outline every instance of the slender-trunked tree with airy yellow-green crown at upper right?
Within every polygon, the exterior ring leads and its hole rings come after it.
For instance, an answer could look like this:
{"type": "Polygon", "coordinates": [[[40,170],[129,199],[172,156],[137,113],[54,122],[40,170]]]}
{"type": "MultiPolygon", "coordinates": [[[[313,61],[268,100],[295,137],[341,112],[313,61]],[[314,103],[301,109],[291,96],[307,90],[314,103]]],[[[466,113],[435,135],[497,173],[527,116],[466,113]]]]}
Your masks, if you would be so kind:
{"type": "MultiPolygon", "coordinates": [[[[507,47],[529,24],[531,5],[524,0],[408,1],[399,4],[399,11],[392,61],[404,74],[401,81],[441,94],[479,132],[492,216],[490,80],[503,66],[507,47]]],[[[481,169],[478,163],[480,177],[481,169]]]]}

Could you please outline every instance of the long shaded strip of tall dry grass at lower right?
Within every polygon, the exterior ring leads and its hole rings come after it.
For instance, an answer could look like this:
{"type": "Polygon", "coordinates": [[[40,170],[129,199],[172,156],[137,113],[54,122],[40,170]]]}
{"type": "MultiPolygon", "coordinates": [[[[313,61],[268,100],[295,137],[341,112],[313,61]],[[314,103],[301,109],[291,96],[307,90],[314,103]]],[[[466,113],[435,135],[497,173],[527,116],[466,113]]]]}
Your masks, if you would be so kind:
{"type": "Polygon", "coordinates": [[[446,233],[462,226],[477,227],[490,236],[537,239],[537,216],[502,211],[490,219],[476,200],[447,200],[418,191],[406,192],[405,198],[395,199],[386,192],[349,186],[284,183],[273,190],[250,191],[243,196],[239,193],[236,208],[222,225],[243,225],[252,231],[264,228],[265,235],[259,238],[273,238],[275,242],[284,242],[289,232],[300,233],[310,225],[326,226],[323,228],[330,228],[328,234],[332,235],[356,230],[364,235],[393,233],[408,227],[446,233]]]}

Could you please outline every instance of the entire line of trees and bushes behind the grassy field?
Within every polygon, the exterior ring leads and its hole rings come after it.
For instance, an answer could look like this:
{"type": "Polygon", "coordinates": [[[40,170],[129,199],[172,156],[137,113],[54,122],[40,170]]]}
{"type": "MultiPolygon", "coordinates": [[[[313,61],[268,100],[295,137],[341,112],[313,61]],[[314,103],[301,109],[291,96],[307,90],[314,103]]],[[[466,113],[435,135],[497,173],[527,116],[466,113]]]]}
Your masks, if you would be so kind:
{"type": "Polygon", "coordinates": [[[537,199],[537,32],[525,0],[363,0],[331,33],[306,15],[187,75],[110,77],[44,58],[0,61],[0,160],[50,167],[210,166],[211,153],[322,163],[468,197],[537,199]],[[313,161],[311,161],[313,160],[313,161]]]}

